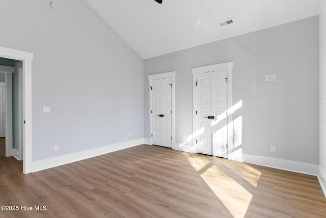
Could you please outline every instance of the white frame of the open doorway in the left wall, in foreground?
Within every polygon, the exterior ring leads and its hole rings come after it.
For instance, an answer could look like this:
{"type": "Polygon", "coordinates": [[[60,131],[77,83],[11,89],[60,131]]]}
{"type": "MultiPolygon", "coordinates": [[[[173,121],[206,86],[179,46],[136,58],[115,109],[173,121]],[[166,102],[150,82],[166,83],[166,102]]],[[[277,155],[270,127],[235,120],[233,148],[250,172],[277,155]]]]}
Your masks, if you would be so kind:
{"type": "Polygon", "coordinates": [[[34,54],[0,46],[0,57],[22,61],[23,174],[32,173],[32,61],[34,54]]]}

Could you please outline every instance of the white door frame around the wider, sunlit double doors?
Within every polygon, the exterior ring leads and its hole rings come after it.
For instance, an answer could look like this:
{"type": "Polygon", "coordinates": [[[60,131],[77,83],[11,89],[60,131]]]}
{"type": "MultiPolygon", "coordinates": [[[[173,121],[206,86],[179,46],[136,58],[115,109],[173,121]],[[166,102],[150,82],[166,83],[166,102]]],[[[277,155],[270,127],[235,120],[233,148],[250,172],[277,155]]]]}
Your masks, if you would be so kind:
{"type": "MultiPolygon", "coordinates": [[[[202,67],[196,67],[192,68],[192,75],[193,75],[193,146],[196,148],[197,152],[197,144],[196,144],[196,75],[203,73],[203,72],[213,72],[213,71],[219,71],[219,70],[227,70],[227,77],[228,77],[228,89],[227,89],[227,98],[228,98],[228,104],[227,104],[227,110],[231,108],[232,106],[232,68],[233,68],[233,62],[226,62],[221,64],[214,64],[214,65],[208,65],[208,66],[202,66],[202,67]]],[[[228,115],[228,121],[227,123],[232,120],[232,115],[228,115]]],[[[227,138],[229,138],[229,131],[227,131],[227,138]]],[[[233,134],[233,133],[232,133],[233,134]]],[[[231,146],[230,143],[233,143],[231,141],[228,141],[229,146],[231,146]]]]}

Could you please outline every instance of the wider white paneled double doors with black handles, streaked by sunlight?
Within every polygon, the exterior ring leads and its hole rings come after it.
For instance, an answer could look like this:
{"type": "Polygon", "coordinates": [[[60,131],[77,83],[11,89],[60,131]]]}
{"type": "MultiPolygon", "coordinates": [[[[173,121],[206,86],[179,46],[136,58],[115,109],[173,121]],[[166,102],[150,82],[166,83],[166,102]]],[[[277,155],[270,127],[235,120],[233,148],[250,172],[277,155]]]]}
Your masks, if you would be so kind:
{"type": "Polygon", "coordinates": [[[197,152],[227,158],[227,70],[196,75],[197,152]]]}

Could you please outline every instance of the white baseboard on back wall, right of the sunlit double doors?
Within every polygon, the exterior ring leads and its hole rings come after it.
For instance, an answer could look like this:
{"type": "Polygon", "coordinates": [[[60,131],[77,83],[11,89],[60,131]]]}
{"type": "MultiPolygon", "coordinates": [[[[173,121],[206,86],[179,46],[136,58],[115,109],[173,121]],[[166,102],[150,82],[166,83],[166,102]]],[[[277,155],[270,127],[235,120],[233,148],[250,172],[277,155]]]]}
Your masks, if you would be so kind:
{"type": "Polygon", "coordinates": [[[284,169],[285,171],[292,171],[296,173],[308,174],[317,176],[318,165],[311,163],[303,163],[292,160],[283,160],[278,158],[256,156],[250,154],[242,154],[243,162],[267,166],[277,169],[284,169]]]}

